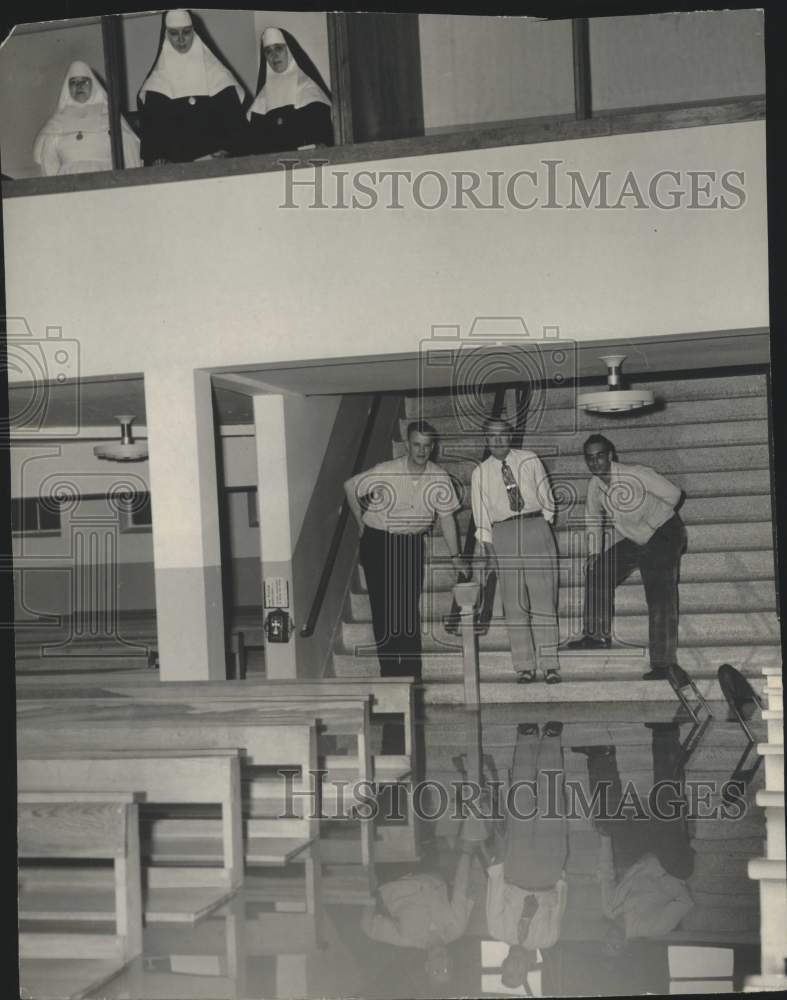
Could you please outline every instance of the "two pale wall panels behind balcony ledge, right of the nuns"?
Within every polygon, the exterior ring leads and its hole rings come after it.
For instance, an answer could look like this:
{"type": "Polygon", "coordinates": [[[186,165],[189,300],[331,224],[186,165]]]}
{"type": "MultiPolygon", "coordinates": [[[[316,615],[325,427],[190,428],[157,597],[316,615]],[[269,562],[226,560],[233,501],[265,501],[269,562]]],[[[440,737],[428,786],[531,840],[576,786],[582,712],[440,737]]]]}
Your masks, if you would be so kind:
{"type": "MultiPolygon", "coordinates": [[[[571,114],[571,21],[421,14],[427,132],[571,114]]],[[[765,92],[761,10],[590,19],[593,108],[765,92]]]]}

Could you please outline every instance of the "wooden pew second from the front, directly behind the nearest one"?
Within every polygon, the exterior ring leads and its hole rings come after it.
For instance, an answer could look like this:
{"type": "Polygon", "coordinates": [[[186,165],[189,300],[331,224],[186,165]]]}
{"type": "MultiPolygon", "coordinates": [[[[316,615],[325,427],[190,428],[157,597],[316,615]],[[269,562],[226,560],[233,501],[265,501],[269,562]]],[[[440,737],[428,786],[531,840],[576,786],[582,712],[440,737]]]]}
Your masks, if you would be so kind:
{"type": "MultiPolygon", "coordinates": [[[[116,751],[109,757],[105,751],[82,751],[70,757],[20,758],[17,774],[25,791],[122,791],[133,786],[145,803],[219,804],[223,867],[147,868],[146,920],[196,920],[243,881],[238,750],[116,751]]],[[[49,888],[46,873],[35,872],[25,888],[23,911],[43,904],[49,888]]],[[[100,890],[100,883],[95,888],[100,890]]],[[[95,903],[99,904],[98,898],[95,903]]]]}

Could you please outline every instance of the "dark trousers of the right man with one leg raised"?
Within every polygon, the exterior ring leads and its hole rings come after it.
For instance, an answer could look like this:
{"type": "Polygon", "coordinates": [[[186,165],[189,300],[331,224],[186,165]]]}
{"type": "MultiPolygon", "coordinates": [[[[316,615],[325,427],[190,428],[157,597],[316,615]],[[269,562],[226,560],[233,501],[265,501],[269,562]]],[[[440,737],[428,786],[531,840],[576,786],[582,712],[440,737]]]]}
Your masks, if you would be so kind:
{"type": "Polygon", "coordinates": [[[676,663],[678,576],[685,548],[686,528],[674,514],[647,545],[624,538],[591,560],[585,579],[585,635],[610,638],[615,587],[639,568],[648,602],[651,668],[664,670],[676,663]]]}

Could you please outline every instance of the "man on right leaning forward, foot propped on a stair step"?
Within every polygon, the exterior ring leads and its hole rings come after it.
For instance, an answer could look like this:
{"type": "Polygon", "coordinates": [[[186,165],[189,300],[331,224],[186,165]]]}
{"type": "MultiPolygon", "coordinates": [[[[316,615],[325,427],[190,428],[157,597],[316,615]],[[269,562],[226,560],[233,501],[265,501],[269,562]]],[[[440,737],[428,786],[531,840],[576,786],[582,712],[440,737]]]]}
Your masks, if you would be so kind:
{"type": "Polygon", "coordinates": [[[603,434],[591,434],[584,450],[592,474],[585,504],[584,634],[567,648],[609,648],[615,588],[638,568],[650,639],[650,670],[643,677],[664,678],[677,665],[678,576],[686,548],[686,528],[676,513],[682,491],[646,465],[614,461],[615,446],[603,434]],[[604,519],[612,527],[606,546],[604,519]]]}

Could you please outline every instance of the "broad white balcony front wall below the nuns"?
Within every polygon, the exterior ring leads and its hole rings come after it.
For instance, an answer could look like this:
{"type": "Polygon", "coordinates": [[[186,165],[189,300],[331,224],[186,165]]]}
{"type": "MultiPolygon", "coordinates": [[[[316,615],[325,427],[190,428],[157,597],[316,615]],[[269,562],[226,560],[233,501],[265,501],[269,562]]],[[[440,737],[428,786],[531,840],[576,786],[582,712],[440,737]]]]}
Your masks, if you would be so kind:
{"type": "MultiPolygon", "coordinates": [[[[611,171],[613,187],[629,170],[643,183],[662,169],[740,170],[746,201],[428,211],[408,197],[401,210],[384,199],[368,211],[284,209],[283,173],[12,198],[7,311],[38,336],[57,323],[78,338],[83,376],[417,351],[433,324],[466,329],[490,314],[580,340],[767,325],[764,122],[341,169],[348,185],[367,169],[508,177],[548,158],[588,184],[611,171]]],[[[332,174],[324,180],[333,190],[332,174]]]]}

